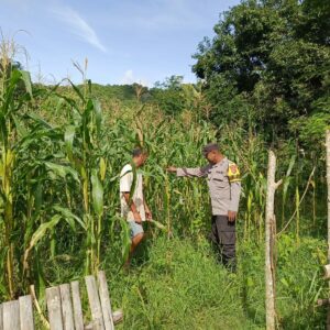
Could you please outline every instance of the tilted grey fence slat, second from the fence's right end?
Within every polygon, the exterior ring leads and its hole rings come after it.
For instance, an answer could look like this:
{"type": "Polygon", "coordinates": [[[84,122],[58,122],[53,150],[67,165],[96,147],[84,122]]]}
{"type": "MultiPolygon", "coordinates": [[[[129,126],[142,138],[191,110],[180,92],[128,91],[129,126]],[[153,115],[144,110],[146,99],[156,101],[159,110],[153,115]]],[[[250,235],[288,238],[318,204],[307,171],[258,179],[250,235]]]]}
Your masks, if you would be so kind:
{"type": "Polygon", "coordinates": [[[99,299],[98,288],[92,275],[85,276],[88,300],[94,321],[94,329],[105,330],[102,308],[99,299]]]}

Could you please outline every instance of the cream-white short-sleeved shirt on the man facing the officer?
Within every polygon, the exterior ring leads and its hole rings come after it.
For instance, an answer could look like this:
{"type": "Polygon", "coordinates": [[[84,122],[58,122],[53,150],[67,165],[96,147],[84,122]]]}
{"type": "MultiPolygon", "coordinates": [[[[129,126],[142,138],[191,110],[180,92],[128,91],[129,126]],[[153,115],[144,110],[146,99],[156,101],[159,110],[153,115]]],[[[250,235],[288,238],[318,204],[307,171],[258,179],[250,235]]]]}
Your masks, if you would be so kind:
{"type": "MultiPolygon", "coordinates": [[[[133,169],[131,164],[127,164],[120,173],[120,205],[121,217],[127,218],[128,221],[134,221],[133,212],[128,206],[123,193],[130,193],[133,184],[133,169]]],[[[142,174],[136,169],[136,184],[132,197],[136,210],[139,211],[142,221],[145,221],[145,210],[143,200],[143,179],[142,174]]]]}

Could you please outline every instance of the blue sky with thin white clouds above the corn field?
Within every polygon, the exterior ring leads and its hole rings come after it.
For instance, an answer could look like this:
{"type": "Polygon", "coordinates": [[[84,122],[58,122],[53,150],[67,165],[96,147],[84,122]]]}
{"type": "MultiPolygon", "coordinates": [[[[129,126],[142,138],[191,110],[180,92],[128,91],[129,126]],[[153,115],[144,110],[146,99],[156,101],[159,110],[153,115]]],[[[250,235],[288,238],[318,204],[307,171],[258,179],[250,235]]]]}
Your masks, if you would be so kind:
{"type": "MultiPolygon", "coordinates": [[[[172,75],[196,81],[197,45],[239,0],[0,0],[0,29],[20,45],[34,81],[82,77],[153,86],[172,75]]],[[[0,36],[1,37],[1,36],[0,36]]]]}

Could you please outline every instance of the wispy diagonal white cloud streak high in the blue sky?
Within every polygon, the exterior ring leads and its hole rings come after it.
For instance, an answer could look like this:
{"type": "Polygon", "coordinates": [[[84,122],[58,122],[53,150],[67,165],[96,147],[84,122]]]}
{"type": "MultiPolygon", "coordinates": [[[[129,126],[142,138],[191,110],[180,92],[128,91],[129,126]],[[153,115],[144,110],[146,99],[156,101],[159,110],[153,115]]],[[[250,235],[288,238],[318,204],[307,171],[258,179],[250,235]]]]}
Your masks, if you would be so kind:
{"type": "Polygon", "coordinates": [[[100,42],[92,28],[79,15],[79,13],[69,7],[54,8],[52,10],[59,20],[70,26],[72,32],[81,37],[90,45],[107,53],[107,48],[100,42]]]}

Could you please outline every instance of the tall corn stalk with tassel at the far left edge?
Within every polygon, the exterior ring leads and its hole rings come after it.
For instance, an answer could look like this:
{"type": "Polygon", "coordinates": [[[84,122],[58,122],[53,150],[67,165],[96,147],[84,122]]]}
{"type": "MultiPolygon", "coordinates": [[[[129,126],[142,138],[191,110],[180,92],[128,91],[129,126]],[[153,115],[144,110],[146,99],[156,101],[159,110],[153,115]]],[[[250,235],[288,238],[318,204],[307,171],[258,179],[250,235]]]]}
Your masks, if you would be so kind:
{"type": "MultiPolygon", "coordinates": [[[[11,298],[16,294],[15,280],[15,241],[13,233],[16,228],[15,219],[15,182],[14,172],[18,166],[16,143],[20,135],[24,134],[21,123],[22,111],[25,102],[32,99],[32,87],[28,72],[14,67],[10,54],[1,45],[0,63],[0,219],[2,227],[1,264],[3,283],[7,284],[7,295],[11,298]]],[[[14,46],[13,46],[14,47],[14,46]]],[[[4,290],[4,286],[1,286],[4,290]]]]}

